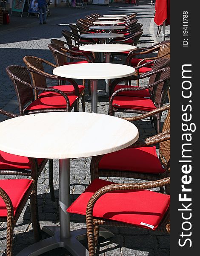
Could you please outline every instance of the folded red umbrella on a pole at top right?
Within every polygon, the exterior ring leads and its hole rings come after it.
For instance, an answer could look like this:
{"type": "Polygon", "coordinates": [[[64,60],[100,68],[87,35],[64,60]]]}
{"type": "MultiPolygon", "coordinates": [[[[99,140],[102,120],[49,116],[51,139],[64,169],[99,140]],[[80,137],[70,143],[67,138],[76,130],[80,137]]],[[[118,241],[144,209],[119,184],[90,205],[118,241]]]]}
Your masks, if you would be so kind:
{"type": "Polygon", "coordinates": [[[170,0],[156,0],[154,22],[163,25],[163,40],[165,40],[165,26],[170,25],[170,0]]]}

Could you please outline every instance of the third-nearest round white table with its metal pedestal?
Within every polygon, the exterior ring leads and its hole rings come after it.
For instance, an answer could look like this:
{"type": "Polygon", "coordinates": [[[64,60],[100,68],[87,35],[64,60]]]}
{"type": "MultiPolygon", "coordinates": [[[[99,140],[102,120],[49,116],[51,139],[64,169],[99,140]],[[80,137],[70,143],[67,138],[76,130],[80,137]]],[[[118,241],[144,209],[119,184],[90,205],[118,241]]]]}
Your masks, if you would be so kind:
{"type": "MultiPolygon", "coordinates": [[[[106,63],[110,63],[111,52],[133,51],[136,50],[137,47],[129,44],[88,44],[80,46],[79,49],[88,52],[104,52],[106,55],[106,63]]],[[[109,79],[106,79],[106,91],[103,93],[103,96],[109,96],[109,79]]]]}

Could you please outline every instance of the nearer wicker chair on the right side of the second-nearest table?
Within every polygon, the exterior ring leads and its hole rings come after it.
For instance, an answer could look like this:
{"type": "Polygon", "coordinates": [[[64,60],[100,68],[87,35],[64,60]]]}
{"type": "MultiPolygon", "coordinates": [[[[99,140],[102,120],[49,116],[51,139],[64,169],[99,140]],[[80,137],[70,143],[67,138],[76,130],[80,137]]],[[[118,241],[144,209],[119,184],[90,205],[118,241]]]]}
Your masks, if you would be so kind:
{"type": "MultiPolygon", "coordinates": [[[[166,99],[167,90],[170,86],[170,67],[149,71],[140,76],[131,76],[129,78],[126,77],[126,79],[116,79],[112,82],[111,88],[124,80],[131,81],[144,78],[149,78],[149,85],[143,87],[123,87],[112,93],[109,100],[109,114],[111,116],[114,116],[115,112],[144,114],[163,106],[166,99]],[[122,95],[125,92],[130,93],[131,91],[137,91],[138,93],[142,91],[144,94],[145,90],[150,88],[152,90],[150,98],[141,97],[140,95],[137,97],[122,95]]],[[[157,115],[154,115],[153,119],[154,127],[157,133],[160,133],[161,114],[158,113],[157,115]]]]}

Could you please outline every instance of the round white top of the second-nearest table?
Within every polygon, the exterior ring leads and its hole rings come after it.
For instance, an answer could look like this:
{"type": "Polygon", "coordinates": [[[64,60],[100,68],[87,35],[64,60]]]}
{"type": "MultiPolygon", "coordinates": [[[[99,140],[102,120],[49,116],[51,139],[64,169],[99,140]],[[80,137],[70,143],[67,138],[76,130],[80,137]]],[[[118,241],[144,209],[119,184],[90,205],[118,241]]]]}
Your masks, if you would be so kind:
{"type": "Polygon", "coordinates": [[[114,79],[132,76],[135,69],[131,66],[114,63],[80,63],[56,67],[54,75],[73,79],[114,79]]]}

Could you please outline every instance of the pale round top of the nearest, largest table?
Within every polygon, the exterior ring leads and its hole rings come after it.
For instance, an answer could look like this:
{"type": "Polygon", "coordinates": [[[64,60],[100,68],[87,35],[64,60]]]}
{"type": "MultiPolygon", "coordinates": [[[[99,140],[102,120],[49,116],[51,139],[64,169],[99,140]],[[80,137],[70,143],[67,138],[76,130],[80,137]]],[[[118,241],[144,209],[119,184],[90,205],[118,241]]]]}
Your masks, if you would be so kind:
{"type": "Polygon", "coordinates": [[[139,137],[137,127],[129,121],[83,112],[38,113],[11,118],[0,123],[0,134],[2,151],[59,159],[114,152],[126,148],[139,137]]]}

